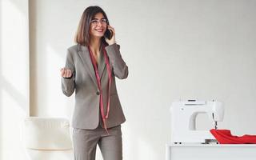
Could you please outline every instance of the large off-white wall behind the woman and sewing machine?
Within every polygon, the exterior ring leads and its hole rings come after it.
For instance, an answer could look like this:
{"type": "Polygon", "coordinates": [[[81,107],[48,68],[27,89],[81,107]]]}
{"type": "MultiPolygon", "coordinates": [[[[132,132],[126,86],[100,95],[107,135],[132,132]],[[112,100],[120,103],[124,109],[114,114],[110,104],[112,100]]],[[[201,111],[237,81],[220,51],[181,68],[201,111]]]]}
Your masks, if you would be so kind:
{"type": "Polygon", "coordinates": [[[224,102],[220,128],[256,134],[253,0],[30,1],[31,115],[70,118],[74,96],[62,94],[59,69],[90,5],[106,10],[130,70],[118,81],[124,159],[164,159],[179,99],[224,102]]]}

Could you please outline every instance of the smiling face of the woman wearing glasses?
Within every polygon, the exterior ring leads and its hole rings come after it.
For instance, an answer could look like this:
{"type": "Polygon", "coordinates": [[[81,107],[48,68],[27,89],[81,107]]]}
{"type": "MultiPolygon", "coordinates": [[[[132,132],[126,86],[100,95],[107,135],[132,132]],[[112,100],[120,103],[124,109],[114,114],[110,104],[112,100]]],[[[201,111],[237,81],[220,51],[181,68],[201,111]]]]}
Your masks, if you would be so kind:
{"type": "Polygon", "coordinates": [[[103,14],[96,14],[90,22],[90,36],[94,38],[102,38],[106,32],[106,26],[106,18],[104,18],[103,14]]]}

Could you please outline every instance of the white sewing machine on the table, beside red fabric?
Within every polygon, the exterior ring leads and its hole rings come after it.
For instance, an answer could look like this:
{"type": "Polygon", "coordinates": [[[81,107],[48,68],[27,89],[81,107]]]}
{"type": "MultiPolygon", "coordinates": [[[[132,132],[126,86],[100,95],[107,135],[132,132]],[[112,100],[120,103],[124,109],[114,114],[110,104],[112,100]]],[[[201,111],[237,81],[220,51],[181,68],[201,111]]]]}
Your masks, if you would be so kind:
{"type": "Polygon", "coordinates": [[[195,122],[198,114],[208,114],[217,129],[217,122],[223,120],[222,102],[187,100],[173,102],[171,112],[171,142],[207,143],[215,140],[210,130],[196,130],[195,122]]]}

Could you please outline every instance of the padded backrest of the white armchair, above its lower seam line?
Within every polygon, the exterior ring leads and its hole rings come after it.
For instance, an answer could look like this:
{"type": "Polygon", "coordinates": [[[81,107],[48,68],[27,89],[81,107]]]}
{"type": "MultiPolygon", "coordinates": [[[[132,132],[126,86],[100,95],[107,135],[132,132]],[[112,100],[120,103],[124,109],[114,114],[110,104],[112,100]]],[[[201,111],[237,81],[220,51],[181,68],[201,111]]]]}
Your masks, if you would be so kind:
{"type": "Polygon", "coordinates": [[[70,122],[66,118],[26,118],[23,133],[27,149],[72,150],[70,122]]]}

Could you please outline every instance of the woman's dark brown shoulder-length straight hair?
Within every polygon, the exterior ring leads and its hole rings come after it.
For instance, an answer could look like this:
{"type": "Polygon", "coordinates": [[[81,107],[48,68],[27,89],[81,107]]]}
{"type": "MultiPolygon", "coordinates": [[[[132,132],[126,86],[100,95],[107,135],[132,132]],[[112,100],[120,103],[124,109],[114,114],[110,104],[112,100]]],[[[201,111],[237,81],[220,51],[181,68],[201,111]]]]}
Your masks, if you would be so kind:
{"type": "MultiPolygon", "coordinates": [[[[75,42],[82,46],[88,46],[90,42],[90,22],[94,16],[98,13],[102,13],[104,18],[106,18],[106,23],[109,25],[109,20],[106,17],[106,13],[99,6],[89,6],[83,11],[82,17],[80,19],[78,30],[75,35],[75,42]]],[[[105,38],[102,37],[102,41],[106,43],[105,38]]]]}

